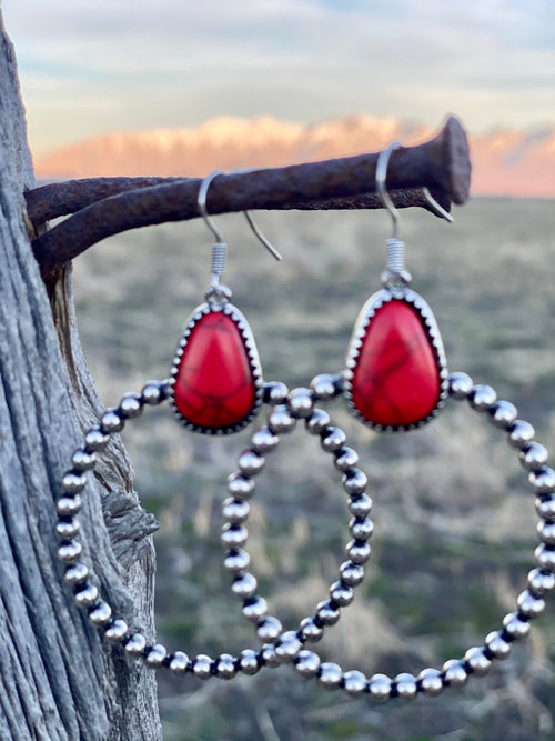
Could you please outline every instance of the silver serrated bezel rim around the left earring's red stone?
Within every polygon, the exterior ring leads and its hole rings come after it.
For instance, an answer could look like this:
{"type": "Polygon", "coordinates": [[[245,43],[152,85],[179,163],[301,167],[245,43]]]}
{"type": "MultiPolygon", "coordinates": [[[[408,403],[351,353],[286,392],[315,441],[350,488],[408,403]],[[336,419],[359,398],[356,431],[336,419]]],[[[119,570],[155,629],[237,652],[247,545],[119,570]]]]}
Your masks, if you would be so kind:
{"type": "Polygon", "coordinates": [[[260,364],[259,351],[254,342],[254,337],[252,334],[251,328],[249,327],[246,319],[243,317],[241,311],[229,302],[224,303],[223,306],[222,304],[214,306],[206,302],[201,304],[200,307],[196,307],[196,309],[189,318],[185,329],[183,330],[183,334],[181,336],[181,340],[179,341],[178,349],[175,350],[175,356],[173,358],[170,375],[171,378],[168,381],[168,387],[169,387],[168,398],[173,414],[176,417],[179,422],[185,429],[191,430],[192,432],[200,432],[201,434],[210,434],[210,435],[231,434],[232,432],[239,432],[239,430],[242,430],[244,427],[246,427],[246,424],[249,424],[249,422],[251,422],[251,420],[254,419],[262,404],[264,382],[262,379],[262,368],[260,364]],[[206,314],[212,312],[222,312],[228,317],[230,317],[236,324],[241,333],[244,347],[246,349],[249,366],[251,369],[254,383],[254,401],[249,412],[243,417],[243,419],[241,419],[235,424],[230,424],[220,428],[210,428],[210,427],[193,424],[179,411],[179,409],[175,405],[175,399],[174,399],[175,377],[178,374],[178,369],[181,362],[181,358],[189,342],[189,338],[191,337],[193,329],[196,327],[198,322],[202,319],[202,317],[205,317],[206,314]]]}

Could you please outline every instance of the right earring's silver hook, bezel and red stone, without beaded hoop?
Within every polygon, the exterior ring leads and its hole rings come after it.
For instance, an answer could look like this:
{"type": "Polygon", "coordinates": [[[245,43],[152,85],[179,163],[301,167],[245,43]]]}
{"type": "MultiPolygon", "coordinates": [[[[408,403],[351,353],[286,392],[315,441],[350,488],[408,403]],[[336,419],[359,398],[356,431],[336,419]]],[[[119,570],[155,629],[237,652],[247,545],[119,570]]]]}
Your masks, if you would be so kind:
{"type": "MultiPolygon", "coordinates": [[[[362,308],[346,356],[343,393],[350,411],[375,430],[413,430],[428,422],[447,397],[443,342],[432,310],[408,288],[404,243],[397,238],[398,213],[385,188],[390,154],[397,142],[380,153],[376,188],[393,219],[387,239],[387,268],[382,290],[362,308]]],[[[452,217],[432,199],[440,216],[452,217]]]]}

